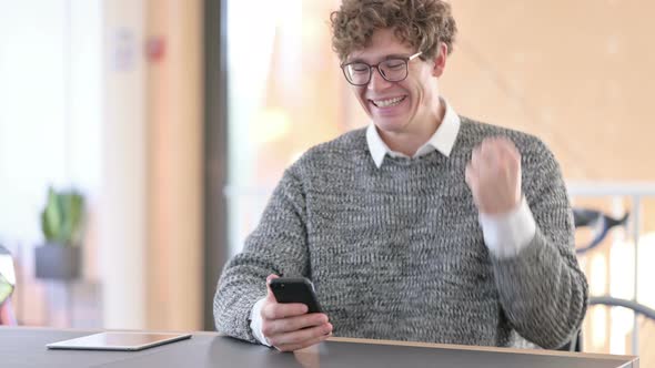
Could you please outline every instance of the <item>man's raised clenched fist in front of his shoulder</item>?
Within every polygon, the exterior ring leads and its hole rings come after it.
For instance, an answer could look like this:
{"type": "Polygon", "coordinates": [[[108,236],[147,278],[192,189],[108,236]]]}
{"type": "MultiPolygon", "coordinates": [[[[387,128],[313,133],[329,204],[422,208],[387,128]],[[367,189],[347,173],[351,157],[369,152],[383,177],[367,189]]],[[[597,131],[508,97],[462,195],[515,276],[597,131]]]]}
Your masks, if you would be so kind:
{"type": "Polygon", "coordinates": [[[466,165],[466,184],[477,209],[505,214],[521,203],[521,154],[512,141],[492,137],[473,150],[466,165]]]}

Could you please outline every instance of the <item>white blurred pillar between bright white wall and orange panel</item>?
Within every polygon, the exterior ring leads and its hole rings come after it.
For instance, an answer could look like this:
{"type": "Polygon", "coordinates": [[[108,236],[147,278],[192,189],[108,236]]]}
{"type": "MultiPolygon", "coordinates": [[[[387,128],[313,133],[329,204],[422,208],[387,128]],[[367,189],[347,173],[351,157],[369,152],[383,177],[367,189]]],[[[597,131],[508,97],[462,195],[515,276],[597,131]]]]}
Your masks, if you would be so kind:
{"type": "Polygon", "coordinates": [[[144,3],[108,0],[103,7],[103,319],[107,328],[140,329],[147,275],[144,3]]]}

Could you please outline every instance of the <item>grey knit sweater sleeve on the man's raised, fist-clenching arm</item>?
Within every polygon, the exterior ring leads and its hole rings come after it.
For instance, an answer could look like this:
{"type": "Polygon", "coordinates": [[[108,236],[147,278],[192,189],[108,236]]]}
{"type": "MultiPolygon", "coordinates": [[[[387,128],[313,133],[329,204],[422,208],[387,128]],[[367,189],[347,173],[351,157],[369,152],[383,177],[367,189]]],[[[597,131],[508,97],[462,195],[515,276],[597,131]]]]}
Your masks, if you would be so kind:
{"type": "Polygon", "coordinates": [[[541,142],[524,154],[523,191],[536,222],[517,256],[492,264],[501,305],[514,329],[557,348],[576,334],[587,307],[587,282],[574,249],[573,216],[560,166],[541,142]]]}

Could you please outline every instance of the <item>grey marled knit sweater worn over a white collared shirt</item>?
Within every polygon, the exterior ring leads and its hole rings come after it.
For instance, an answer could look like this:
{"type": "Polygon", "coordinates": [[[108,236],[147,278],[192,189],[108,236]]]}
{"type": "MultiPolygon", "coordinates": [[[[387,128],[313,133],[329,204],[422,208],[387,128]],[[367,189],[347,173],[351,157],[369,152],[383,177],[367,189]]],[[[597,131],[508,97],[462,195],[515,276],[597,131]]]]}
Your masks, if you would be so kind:
{"type": "Polygon", "coordinates": [[[223,269],[219,331],[255,341],[250,313],[269,274],[306,276],[334,336],[544,348],[566,343],[586,310],[560,167],[534,136],[462,119],[450,157],[385,157],[365,130],[309,150],[284,173],[244,249],[223,269]],[[498,259],[484,244],[464,182],[474,146],[510,137],[537,229],[498,259]]]}

